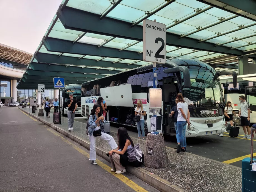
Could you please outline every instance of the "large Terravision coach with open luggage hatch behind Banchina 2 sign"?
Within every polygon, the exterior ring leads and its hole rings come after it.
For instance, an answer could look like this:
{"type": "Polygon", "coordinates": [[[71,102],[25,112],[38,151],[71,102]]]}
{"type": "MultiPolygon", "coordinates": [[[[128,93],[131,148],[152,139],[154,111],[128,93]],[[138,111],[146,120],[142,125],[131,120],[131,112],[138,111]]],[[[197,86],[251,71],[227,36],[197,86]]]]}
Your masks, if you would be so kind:
{"type": "MultiPolygon", "coordinates": [[[[175,106],[176,95],[183,93],[189,105],[191,122],[191,126],[186,128],[186,137],[222,133],[225,119],[219,75],[210,65],[192,59],[172,59],[165,64],[157,64],[157,88],[162,89],[157,131],[176,136],[174,119],[169,118],[169,113],[175,106]]],[[[126,119],[128,114],[134,114],[137,100],[141,100],[147,112],[144,129],[151,132],[149,121],[153,110],[149,109],[149,88],[153,88],[152,65],[82,83],[82,116],[88,118],[93,104],[101,96],[106,101],[110,117],[117,118],[117,122],[110,123],[133,126],[135,131],[136,125],[127,124],[126,119]]]]}

